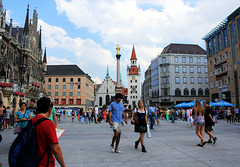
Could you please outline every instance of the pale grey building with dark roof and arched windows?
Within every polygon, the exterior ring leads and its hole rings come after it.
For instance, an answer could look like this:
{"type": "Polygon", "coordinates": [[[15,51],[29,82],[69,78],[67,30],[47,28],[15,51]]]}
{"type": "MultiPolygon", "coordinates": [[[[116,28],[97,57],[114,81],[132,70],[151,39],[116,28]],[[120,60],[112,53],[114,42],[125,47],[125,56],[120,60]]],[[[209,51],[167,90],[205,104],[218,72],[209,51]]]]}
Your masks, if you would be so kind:
{"type": "Polygon", "coordinates": [[[170,44],[158,64],[160,106],[209,99],[207,55],[200,46],[170,44]]]}

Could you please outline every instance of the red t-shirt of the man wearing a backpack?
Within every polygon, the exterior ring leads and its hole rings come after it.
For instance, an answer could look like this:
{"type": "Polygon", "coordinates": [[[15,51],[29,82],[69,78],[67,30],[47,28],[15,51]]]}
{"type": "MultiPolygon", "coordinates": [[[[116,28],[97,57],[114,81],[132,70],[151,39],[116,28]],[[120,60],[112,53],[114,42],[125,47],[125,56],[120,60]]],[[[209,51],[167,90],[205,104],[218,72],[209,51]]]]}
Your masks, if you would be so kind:
{"type": "MultiPolygon", "coordinates": [[[[44,118],[42,115],[36,115],[33,119],[32,122],[35,123],[38,119],[44,118]]],[[[56,126],[51,120],[46,120],[42,123],[40,123],[37,128],[37,140],[38,140],[38,157],[40,158],[44,151],[47,148],[47,145],[49,144],[57,144],[58,139],[57,139],[57,134],[56,134],[56,126]]],[[[45,167],[47,166],[47,157],[48,153],[46,153],[39,163],[39,167],[45,167]]],[[[51,150],[51,154],[49,155],[49,167],[54,167],[55,166],[55,158],[53,156],[53,152],[51,150]]]]}

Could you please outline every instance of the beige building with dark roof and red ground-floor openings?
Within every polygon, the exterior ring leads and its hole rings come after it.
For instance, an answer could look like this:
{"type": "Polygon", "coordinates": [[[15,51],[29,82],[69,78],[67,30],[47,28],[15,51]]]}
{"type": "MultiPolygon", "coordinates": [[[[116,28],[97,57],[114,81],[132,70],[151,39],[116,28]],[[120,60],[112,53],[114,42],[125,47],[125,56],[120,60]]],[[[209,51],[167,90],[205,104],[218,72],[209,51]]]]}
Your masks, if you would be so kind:
{"type": "Polygon", "coordinates": [[[94,81],[77,65],[48,65],[45,92],[55,107],[94,105],[94,81]]]}

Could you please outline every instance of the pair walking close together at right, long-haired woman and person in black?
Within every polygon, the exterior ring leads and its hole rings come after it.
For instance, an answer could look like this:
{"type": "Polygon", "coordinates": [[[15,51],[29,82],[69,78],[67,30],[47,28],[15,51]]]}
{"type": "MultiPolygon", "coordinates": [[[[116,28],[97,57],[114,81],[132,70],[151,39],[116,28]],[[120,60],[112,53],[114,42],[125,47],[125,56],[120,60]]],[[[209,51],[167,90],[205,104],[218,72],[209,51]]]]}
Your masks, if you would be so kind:
{"type": "Polygon", "coordinates": [[[196,124],[196,134],[200,138],[201,142],[197,145],[203,147],[206,143],[215,144],[217,137],[212,134],[212,126],[215,124],[213,117],[213,110],[209,106],[209,101],[204,102],[204,107],[199,100],[196,100],[194,106],[195,117],[191,126],[196,124]],[[209,135],[209,140],[204,140],[203,130],[209,135]],[[213,140],[213,141],[212,141],[213,140]]]}

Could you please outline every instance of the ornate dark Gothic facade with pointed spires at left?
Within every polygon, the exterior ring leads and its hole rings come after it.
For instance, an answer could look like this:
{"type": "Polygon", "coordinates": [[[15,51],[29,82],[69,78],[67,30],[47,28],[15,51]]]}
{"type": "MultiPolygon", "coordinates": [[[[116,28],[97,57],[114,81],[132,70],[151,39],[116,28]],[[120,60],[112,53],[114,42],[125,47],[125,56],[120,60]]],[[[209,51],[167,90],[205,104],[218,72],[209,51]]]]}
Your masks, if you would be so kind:
{"type": "Polygon", "coordinates": [[[0,99],[4,105],[18,109],[20,101],[28,103],[31,98],[39,98],[44,93],[47,62],[46,57],[42,58],[36,10],[30,22],[28,6],[24,27],[13,27],[0,1],[0,52],[0,99]]]}

